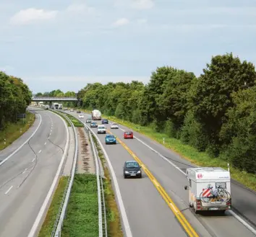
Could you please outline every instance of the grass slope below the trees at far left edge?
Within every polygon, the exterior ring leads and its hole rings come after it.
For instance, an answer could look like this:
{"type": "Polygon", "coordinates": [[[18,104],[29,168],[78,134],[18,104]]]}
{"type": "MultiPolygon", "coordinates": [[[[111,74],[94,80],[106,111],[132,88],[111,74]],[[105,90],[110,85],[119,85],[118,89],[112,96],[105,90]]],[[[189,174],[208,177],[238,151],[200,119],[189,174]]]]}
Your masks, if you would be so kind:
{"type": "Polygon", "coordinates": [[[0,151],[11,145],[17,138],[20,138],[34,122],[35,115],[27,111],[24,121],[20,119],[17,123],[8,123],[7,128],[0,130],[0,151]],[[6,139],[6,144],[4,144],[4,139],[6,139]]]}

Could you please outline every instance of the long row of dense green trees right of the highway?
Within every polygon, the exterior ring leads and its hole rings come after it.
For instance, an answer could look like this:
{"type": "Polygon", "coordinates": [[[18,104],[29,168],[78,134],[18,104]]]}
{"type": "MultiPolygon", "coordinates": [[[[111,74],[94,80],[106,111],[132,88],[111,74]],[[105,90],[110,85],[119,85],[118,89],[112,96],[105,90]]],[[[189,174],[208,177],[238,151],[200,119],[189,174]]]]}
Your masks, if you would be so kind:
{"type": "Polygon", "coordinates": [[[151,126],[183,143],[256,172],[256,71],[232,53],[216,55],[200,76],[171,66],[156,68],[148,84],[88,84],[77,97],[100,109],[151,126]]]}

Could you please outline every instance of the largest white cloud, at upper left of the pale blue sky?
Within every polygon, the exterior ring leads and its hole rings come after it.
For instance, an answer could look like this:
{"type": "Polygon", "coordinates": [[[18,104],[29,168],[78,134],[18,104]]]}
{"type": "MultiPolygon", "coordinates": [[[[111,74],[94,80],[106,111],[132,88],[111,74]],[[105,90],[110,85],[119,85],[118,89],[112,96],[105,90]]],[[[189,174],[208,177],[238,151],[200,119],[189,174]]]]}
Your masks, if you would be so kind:
{"type": "Polygon", "coordinates": [[[11,18],[11,24],[30,24],[31,22],[47,21],[54,19],[57,11],[29,8],[21,10],[11,18]]]}

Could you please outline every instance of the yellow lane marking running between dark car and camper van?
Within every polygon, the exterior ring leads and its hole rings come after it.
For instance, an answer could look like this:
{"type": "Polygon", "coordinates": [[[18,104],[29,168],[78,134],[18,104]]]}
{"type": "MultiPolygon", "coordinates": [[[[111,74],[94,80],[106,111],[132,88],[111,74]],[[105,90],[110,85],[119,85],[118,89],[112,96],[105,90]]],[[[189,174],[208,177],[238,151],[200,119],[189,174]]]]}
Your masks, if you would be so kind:
{"type": "MultiPolygon", "coordinates": [[[[109,130],[107,130],[107,132],[109,134],[111,134],[111,135],[114,135],[109,130]]],[[[188,236],[189,237],[199,237],[197,235],[197,233],[195,232],[194,228],[192,228],[192,225],[189,224],[189,222],[184,217],[182,212],[175,205],[174,201],[171,200],[171,197],[168,196],[168,194],[165,191],[165,189],[163,189],[161,184],[159,184],[157,179],[155,179],[155,177],[153,176],[153,174],[151,174],[151,172],[148,170],[148,168],[145,166],[145,164],[143,164],[142,161],[140,161],[140,158],[138,158],[135,155],[135,153],[133,153],[132,150],[130,150],[130,148],[125,143],[123,143],[119,138],[116,137],[116,140],[118,140],[118,142],[121,144],[121,146],[123,146],[129,152],[129,154],[135,159],[135,161],[137,161],[137,163],[139,163],[140,166],[142,166],[142,169],[144,170],[145,174],[148,175],[150,181],[154,184],[155,188],[161,194],[161,196],[163,197],[163,200],[166,201],[168,207],[170,207],[171,211],[174,213],[174,215],[176,216],[177,220],[179,220],[179,223],[182,225],[184,230],[187,232],[188,236]]]]}

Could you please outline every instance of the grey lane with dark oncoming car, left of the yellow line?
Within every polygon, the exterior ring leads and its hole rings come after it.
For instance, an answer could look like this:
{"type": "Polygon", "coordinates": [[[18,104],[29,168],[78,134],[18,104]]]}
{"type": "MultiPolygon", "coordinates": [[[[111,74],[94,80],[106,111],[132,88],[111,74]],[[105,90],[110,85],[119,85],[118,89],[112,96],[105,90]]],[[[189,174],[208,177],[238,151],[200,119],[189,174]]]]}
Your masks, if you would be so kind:
{"type": "Polygon", "coordinates": [[[142,179],[124,179],[122,167],[125,161],[133,160],[132,156],[121,144],[105,145],[105,135],[98,135],[98,138],[114,168],[132,235],[166,237],[172,233],[187,236],[148,176],[142,173],[142,179]]]}

